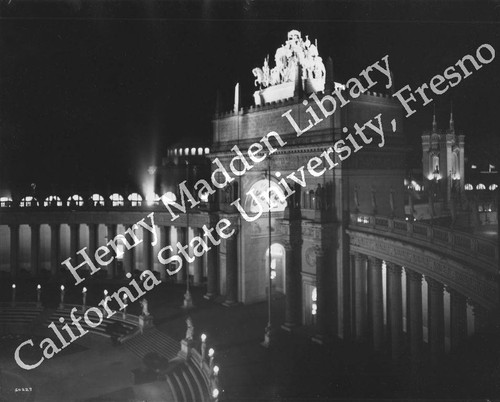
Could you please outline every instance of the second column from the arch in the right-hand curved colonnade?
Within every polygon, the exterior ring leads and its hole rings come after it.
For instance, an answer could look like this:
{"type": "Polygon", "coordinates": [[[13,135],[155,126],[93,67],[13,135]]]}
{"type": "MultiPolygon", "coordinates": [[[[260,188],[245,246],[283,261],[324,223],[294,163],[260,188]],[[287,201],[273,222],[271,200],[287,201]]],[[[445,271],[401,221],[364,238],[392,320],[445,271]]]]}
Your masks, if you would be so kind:
{"type": "Polygon", "coordinates": [[[375,257],[368,257],[368,306],[373,348],[380,350],[384,341],[382,260],[375,257]]]}

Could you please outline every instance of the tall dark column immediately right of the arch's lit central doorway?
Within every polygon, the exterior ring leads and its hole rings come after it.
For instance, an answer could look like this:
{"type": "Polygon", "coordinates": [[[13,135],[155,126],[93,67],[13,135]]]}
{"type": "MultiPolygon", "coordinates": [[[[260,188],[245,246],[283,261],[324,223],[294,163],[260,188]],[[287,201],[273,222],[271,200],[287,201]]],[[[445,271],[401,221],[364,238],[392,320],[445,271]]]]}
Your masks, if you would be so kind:
{"type": "Polygon", "coordinates": [[[285,324],[283,328],[290,330],[300,324],[300,243],[292,246],[285,244],[285,275],[286,275],[286,301],[285,301],[285,324]],[[295,250],[295,252],[294,252],[295,250]]]}

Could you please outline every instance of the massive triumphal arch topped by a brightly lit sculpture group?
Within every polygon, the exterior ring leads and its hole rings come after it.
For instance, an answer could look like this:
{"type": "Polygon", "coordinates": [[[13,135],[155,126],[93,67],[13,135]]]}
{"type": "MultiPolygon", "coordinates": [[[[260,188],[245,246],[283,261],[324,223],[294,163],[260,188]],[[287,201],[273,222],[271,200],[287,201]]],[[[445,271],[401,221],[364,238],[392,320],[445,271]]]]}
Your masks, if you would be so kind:
{"type": "Polygon", "coordinates": [[[245,162],[234,160],[235,146],[247,163],[249,154],[261,159],[217,196],[218,218],[238,227],[219,250],[218,287],[226,304],[265,300],[271,272],[273,290],[286,295],[285,326],[314,321],[319,338],[342,337],[348,319],[349,214],[404,214],[400,104],[366,87],[349,91],[333,76],[332,64],[319,55],[316,41],[290,31],[274,60],[266,57],[252,70],[254,104],[239,104],[236,85],[232,110],[215,116],[211,150],[227,171],[231,163],[244,170],[245,162]],[[327,117],[332,103],[327,108],[325,97],[343,107],[327,117]],[[384,144],[375,138],[363,144],[360,136],[350,141],[355,124],[363,127],[377,116],[384,144]],[[342,144],[350,146],[349,155],[342,144]]]}

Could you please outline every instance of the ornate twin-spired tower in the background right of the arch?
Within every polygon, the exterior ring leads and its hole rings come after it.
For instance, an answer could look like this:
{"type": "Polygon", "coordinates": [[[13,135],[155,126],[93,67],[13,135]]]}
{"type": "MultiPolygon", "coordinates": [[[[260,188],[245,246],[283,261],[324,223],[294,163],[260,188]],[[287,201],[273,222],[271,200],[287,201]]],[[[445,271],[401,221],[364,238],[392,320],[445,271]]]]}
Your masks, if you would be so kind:
{"type": "Polygon", "coordinates": [[[449,127],[438,130],[434,110],[432,131],[422,135],[422,169],[436,201],[449,207],[453,194],[464,190],[464,135],[455,133],[453,108],[449,127]]]}

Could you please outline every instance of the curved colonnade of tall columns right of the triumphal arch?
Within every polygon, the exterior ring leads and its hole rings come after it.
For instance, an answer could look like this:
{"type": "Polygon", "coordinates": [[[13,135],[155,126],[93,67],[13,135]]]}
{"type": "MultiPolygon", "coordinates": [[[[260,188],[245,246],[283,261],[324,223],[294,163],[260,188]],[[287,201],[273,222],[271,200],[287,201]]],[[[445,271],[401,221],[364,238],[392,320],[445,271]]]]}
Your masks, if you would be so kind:
{"type": "Polygon", "coordinates": [[[438,361],[488,325],[482,306],[431,277],[360,253],[351,261],[353,337],[389,349],[393,359],[406,351],[412,360],[438,361]]]}

